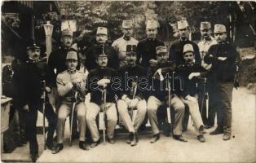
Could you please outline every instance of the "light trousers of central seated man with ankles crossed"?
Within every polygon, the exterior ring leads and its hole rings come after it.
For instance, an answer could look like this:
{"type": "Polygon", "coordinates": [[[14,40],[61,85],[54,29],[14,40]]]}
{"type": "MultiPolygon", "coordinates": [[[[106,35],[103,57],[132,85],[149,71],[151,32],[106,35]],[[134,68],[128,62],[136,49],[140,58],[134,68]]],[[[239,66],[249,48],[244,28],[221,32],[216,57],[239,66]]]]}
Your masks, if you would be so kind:
{"type": "Polygon", "coordinates": [[[129,130],[129,132],[135,133],[139,129],[139,126],[141,126],[141,124],[143,123],[146,116],[147,102],[145,99],[143,99],[140,100],[139,103],[136,105],[135,109],[137,109],[137,114],[135,117],[134,125],[132,124],[132,120],[128,112],[128,105],[123,99],[118,99],[117,109],[121,120],[126,126],[126,129],[129,130]]]}

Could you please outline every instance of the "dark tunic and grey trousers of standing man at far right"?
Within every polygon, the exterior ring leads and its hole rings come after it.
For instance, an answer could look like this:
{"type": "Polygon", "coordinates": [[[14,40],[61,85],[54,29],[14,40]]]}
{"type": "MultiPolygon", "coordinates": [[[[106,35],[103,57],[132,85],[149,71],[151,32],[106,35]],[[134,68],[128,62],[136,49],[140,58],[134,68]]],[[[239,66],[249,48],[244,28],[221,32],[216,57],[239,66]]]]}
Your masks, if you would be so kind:
{"type": "Polygon", "coordinates": [[[217,108],[218,127],[228,134],[231,134],[232,89],[238,59],[239,53],[236,51],[236,47],[227,41],[210,46],[204,59],[206,64],[212,64],[209,73],[209,87],[214,94],[210,94],[212,95],[210,101],[217,108]],[[227,59],[222,61],[218,57],[227,57],[227,59]]]}

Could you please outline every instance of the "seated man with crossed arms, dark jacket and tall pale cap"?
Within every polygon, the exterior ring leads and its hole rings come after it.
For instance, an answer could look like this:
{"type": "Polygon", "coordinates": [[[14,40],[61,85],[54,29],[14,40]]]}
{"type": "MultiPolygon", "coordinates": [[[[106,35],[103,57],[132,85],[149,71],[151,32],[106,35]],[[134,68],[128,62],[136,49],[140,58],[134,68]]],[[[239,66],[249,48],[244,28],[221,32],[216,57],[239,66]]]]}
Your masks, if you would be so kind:
{"type": "Polygon", "coordinates": [[[188,105],[189,113],[192,117],[194,127],[197,134],[197,139],[203,143],[205,137],[203,135],[204,124],[199,112],[198,104],[198,90],[196,83],[198,83],[198,77],[205,76],[206,72],[201,64],[195,64],[194,50],[191,44],[185,44],[183,48],[183,58],[185,64],[179,67],[179,75],[183,77],[183,90],[179,92],[184,104],[188,105]]]}

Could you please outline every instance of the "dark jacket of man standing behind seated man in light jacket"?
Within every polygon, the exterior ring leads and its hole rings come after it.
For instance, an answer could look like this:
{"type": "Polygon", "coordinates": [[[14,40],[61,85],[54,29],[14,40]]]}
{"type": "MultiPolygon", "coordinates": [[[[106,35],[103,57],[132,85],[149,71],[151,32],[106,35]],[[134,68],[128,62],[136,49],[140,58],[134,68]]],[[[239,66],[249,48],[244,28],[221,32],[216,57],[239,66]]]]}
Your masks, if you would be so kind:
{"type": "MultiPolygon", "coordinates": [[[[57,51],[52,51],[48,59],[48,68],[50,73],[50,84],[56,86],[56,77],[59,73],[64,72],[67,69],[66,57],[68,47],[59,46],[57,51]],[[55,73],[56,69],[56,73],[55,73]]],[[[78,66],[77,66],[78,68],[78,66]]]]}

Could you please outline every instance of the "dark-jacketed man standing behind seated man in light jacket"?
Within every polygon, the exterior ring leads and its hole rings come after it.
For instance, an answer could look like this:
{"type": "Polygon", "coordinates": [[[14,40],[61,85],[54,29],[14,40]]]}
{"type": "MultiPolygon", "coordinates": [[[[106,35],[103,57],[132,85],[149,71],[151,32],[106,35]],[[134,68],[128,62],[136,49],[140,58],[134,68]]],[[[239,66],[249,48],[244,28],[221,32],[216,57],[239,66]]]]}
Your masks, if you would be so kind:
{"type": "MultiPolygon", "coordinates": [[[[48,59],[48,68],[50,73],[50,86],[52,87],[51,100],[55,104],[56,112],[60,107],[60,97],[57,93],[56,77],[59,73],[64,72],[67,69],[66,57],[67,52],[72,49],[73,46],[73,32],[70,29],[64,29],[61,33],[62,45],[56,51],[52,51],[48,59]]],[[[77,64],[79,69],[79,63],[77,64]]],[[[75,116],[76,117],[76,116],[75,116]]],[[[75,118],[74,118],[75,119],[75,118]]],[[[78,138],[77,121],[73,121],[73,139],[78,138]]]]}

